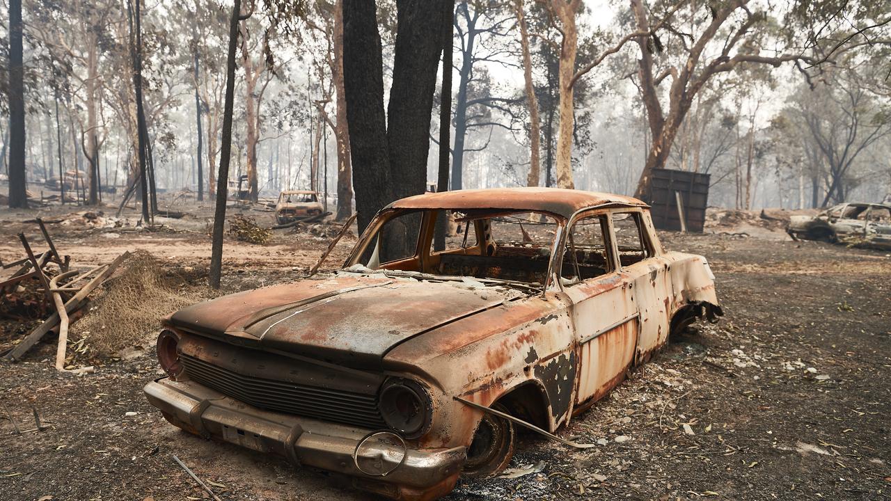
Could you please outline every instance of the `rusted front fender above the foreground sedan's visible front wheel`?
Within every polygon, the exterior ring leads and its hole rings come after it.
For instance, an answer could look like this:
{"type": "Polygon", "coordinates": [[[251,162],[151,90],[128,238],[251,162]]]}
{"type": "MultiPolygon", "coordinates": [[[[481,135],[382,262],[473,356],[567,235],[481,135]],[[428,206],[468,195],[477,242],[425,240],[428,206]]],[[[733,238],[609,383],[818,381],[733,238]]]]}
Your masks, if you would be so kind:
{"type": "Polygon", "coordinates": [[[392,349],[385,367],[419,374],[430,382],[433,427],[421,447],[469,446],[483,413],[459,396],[489,407],[505,393],[526,387],[530,407],[544,409],[547,431],[571,412],[576,382],[574,330],[568,299],[557,292],[507,302],[443,325],[392,349]]]}

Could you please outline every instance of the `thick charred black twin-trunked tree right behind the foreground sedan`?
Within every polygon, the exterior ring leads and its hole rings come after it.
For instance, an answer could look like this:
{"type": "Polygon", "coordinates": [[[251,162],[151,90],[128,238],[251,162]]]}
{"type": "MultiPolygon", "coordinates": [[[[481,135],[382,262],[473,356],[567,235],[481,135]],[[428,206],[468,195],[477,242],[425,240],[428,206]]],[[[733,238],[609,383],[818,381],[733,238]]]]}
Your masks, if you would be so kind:
{"type": "Polygon", "coordinates": [[[360,231],[389,202],[424,193],[427,185],[430,116],[442,50],[441,38],[429,34],[441,33],[445,1],[396,2],[396,55],[386,115],[375,6],[344,3],[344,86],[360,231]]]}

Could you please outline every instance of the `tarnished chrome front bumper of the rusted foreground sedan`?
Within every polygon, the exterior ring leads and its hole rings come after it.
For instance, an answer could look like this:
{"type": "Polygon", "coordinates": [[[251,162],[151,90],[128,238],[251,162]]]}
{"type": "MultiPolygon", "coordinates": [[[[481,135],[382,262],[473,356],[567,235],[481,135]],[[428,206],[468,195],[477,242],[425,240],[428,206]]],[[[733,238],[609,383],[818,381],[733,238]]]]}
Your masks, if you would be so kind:
{"type": "Polygon", "coordinates": [[[409,448],[395,470],[386,476],[369,475],[359,471],[356,462],[386,461],[388,466],[382,469],[386,471],[399,463],[402,449],[366,442],[354,462],[367,430],[250,407],[195,382],[161,378],[145,385],[143,391],[152,406],[185,431],[286,457],[293,464],[346,474],[357,489],[387,497],[434,499],[446,495],[466,457],[464,448],[409,448]]]}

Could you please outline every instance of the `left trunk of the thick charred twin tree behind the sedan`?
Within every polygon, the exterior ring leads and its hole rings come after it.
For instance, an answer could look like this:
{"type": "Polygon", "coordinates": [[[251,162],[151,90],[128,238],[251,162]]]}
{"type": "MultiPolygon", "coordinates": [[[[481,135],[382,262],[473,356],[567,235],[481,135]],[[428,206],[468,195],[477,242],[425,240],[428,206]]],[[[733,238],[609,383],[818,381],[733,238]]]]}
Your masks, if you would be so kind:
{"type": "MultiPolygon", "coordinates": [[[[373,2],[343,4],[343,76],[359,232],[393,201],[390,191],[383,61],[373,2]]],[[[428,129],[424,129],[427,134],[428,129]]]]}

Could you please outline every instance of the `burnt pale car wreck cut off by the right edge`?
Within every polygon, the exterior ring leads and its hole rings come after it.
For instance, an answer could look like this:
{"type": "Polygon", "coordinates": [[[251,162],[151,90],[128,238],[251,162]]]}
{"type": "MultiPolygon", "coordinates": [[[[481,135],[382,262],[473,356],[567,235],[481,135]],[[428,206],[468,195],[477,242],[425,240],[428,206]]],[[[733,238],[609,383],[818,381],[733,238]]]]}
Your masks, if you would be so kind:
{"type": "Polygon", "coordinates": [[[841,203],[814,217],[793,216],[786,232],[793,239],[891,250],[891,205],[841,203]]]}

